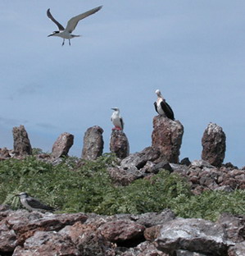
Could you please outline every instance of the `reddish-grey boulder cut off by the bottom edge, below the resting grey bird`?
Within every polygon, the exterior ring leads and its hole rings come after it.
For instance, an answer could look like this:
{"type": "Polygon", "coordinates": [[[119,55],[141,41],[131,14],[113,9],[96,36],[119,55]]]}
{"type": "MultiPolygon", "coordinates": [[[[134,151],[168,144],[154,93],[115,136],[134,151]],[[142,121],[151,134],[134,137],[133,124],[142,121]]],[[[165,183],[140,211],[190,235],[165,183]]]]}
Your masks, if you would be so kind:
{"type": "Polygon", "coordinates": [[[36,231],[25,240],[22,246],[17,246],[13,256],[77,256],[79,250],[72,243],[69,236],[60,235],[55,231],[36,231]]]}

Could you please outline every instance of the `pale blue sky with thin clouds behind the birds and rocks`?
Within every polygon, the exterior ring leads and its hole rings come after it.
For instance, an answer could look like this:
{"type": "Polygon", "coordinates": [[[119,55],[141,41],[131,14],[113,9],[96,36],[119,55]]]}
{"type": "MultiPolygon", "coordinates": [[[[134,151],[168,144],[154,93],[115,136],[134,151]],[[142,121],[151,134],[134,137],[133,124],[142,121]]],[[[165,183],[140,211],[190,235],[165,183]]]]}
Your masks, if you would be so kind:
{"type": "Polygon", "coordinates": [[[245,166],[245,2],[243,0],[16,0],[0,2],[0,147],[13,126],[35,148],[51,151],[62,132],[102,126],[105,152],[111,107],[120,107],[130,152],[151,145],[153,102],[161,89],[184,125],[181,158],[200,159],[202,134],[225,131],[225,162],[245,166]],[[47,37],[71,16],[103,5],[79,22],[72,39],[47,37]]]}

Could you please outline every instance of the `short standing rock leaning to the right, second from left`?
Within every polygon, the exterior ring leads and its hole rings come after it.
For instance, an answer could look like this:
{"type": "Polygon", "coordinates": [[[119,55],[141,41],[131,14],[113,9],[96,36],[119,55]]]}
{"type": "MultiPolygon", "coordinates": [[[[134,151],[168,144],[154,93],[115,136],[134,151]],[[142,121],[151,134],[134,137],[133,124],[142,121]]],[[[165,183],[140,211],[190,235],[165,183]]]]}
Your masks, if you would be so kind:
{"type": "Polygon", "coordinates": [[[57,138],[56,142],[52,145],[52,157],[61,158],[67,156],[70,147],[73,145],[74,135],[64,132],[57,138]]]}

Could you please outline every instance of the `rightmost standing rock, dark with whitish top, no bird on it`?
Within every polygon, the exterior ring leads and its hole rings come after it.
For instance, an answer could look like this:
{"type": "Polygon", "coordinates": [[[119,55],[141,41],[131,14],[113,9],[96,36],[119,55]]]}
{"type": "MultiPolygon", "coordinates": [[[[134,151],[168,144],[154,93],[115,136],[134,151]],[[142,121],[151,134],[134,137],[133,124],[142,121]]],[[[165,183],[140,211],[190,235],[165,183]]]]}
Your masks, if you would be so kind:
{"type": "Polygon", "coordinates": [[[202,136],[202,160],[220,167],[225,158],[225,139],[222,128],[210,123],[202,136]]]}

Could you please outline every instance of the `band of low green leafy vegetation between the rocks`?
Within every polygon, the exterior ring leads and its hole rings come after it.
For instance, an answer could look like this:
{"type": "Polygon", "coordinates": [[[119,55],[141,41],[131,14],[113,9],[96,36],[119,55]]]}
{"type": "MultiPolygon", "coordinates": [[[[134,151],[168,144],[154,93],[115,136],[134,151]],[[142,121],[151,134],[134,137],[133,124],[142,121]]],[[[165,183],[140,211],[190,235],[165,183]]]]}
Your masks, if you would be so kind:
{"type": "Polygon", "coordinates": [[[112,184],[107,167],[116,158],[105,154],[94,162],[64,158],[53,166],[34,157],[0,162],[0,203],[20,208],[15,194],[28,192],[60,213],[147,213],[171,208],[179,217],[216,220],[220,213],[244,214],[245,191],[191,194],[184,178],[162,170],[151,179],[122,187],[112,184]]]}

